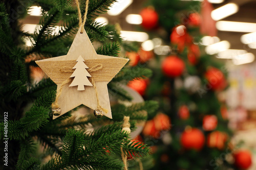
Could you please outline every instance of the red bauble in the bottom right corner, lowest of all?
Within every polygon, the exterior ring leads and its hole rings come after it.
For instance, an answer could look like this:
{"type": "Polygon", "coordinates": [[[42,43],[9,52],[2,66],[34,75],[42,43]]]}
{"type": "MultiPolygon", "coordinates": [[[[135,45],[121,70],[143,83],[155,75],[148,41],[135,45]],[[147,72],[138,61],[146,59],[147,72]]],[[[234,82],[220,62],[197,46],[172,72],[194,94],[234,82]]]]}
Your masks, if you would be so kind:
{"type": "Polygon", "coordinates": [[[241,150],[234,154],[234,160],[237,167],[241,169],[247,169],[252,164],[251,153],[247,150],[241,150]]]}

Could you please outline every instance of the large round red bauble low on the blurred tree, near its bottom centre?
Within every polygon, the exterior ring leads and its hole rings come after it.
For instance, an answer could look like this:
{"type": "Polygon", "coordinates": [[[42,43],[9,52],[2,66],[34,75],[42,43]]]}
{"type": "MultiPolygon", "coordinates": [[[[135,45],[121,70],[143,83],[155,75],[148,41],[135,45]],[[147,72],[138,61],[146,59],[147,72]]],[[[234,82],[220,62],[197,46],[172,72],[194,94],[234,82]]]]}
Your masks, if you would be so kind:
{"type": "Polygon", "coordinates": [[[204,141],[204,134],[197,128],[185,130],[181,135],[181,144],[185,149],[201,150],[204,141]]]}

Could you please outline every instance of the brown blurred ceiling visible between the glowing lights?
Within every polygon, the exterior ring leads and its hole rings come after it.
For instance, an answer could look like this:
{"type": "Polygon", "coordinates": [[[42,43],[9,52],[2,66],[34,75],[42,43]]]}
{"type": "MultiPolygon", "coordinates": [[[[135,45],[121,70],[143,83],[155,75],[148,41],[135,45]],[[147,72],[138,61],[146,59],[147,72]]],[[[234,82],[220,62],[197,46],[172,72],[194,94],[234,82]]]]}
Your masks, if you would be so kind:
{"type": "MultiPolygon", "coordinates": [[[[189,0],[188,0],[189,1],[189,0]]],[[[140,30],[138,25],[131,25],[127,23],[125,17],[129,14],[139,14],[141,9],[146,5],[147,0],[133,0],[133,3],[127,7],[122,13],[116,16],[109,14],[103,14],[102,17],[106,17],[109,23],[119,23],[122,30],[125,31],[138,31],[140,30]]],[[[225,0],[221,4],[213,4],[217,9],[228,3],[235,3],[239,6],[239,11],[231,16],[223,18],[224,21],[237,21],[237,22],[251,22],[256,23],[256,0],[225,0]]],[[[38,16],[28,16],[23,23],[36,24],[38,23],[38,16]]],[[[227,40],[230,43],[230,49],[246,50],[249,53],[253,53],[256,56],[256,49],[249,48],[248,45],[241,42],[241,36],[247,34],[245,32],[230,32],[230,31],[218,31],[218,37],[221,41],[227,40]]]]}

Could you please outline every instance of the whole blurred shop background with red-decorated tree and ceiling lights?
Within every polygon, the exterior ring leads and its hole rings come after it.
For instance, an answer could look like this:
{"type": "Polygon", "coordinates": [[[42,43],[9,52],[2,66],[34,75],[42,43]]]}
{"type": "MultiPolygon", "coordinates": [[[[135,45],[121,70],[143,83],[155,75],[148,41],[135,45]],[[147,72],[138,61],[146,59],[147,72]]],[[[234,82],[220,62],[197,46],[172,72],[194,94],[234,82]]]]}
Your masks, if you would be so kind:
{"type": "MultiPolygon", "coordinates": [[[[160,104],[138,128],[150,168],[256,169],[255,10],[254,0],[120,0],[95,18],[120,31],[131,66],[153,70],[128,84],[160,104]]],[[[34,33],[40,16],[31,7],[23,30],[34,33]]]]}

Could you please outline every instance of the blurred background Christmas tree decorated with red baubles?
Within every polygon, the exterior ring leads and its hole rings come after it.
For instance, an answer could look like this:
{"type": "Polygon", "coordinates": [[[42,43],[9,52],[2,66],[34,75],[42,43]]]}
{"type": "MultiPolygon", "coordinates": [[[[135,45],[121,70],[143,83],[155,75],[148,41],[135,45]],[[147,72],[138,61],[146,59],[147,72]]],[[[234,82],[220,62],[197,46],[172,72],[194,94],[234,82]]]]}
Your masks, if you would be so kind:
{"type": "Polygon", "coordinates": [[[138,55],[140,63],[148,60],[153,77],[134,80],[129,86],[160,105],[160,113],[143,130],[144,141],[157,148],[153,169],[237,168],[221,97],[227,70],[201,44],[203,35],[216,36],[215,21],[207,15],[211,4],[151,0],[146,5],[140,13],[141,26],[151,40],[142,43],[138,55]]]}

